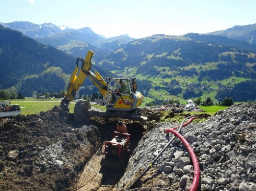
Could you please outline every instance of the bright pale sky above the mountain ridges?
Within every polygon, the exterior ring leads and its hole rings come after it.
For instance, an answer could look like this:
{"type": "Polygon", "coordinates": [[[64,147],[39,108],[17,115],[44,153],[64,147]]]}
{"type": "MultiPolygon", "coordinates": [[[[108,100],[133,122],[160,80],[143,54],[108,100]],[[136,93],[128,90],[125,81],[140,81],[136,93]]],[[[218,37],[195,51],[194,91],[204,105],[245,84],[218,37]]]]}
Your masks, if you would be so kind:
{"type": "Polygon", "coordinates": [[[91,28],[105,37],[182,35],[256,23],[255,0],[0,0],[0,22],[91,28]]]}

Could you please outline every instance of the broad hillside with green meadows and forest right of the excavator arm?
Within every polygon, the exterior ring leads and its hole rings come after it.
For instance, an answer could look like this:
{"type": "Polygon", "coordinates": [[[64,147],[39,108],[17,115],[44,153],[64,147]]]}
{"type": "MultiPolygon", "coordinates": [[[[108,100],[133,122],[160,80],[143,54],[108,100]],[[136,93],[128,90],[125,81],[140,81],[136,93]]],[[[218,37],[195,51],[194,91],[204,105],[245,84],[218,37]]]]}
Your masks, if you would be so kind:
{"type": "Polygon", "coordinates": [[[235,101],[254,100],[255,50],[251,51],[253,47],[243,43],[239,44],[243,46],[240,49],[236,43],[230,46],[189,35],[153,35],[127,43],[95,60],[115,74],[136,77],[139,90],[149,97],[205,99],[210,96],[222,100],[225,94],[235,101]],[[240,83],[251,91],[238,97],[226,93],[227,90],[242,92],[240,83]]]}

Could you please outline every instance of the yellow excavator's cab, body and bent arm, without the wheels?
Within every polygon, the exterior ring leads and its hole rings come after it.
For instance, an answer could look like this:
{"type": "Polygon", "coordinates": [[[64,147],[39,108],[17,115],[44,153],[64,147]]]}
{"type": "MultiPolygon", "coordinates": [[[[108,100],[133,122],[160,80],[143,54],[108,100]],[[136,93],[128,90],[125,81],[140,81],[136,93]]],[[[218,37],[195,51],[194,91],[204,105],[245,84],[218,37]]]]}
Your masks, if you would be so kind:
{"type": "Polygon", "coordinates": [[[102,78],[99,72],[91,72],[91,58],[93,55],[94,52],[88,50],[85,59],[77,58],[77,66],[71,74],[63,103],[69,103],[69,101],[74,99],[79,87],[83,84],[87,76],[89,76],[91,82],[98,87],[100,93],[103,95],[107,111],[130,112],[141,106],[143,95],[137,91],[135,78],[102,78]],[[82,62],[80,70],[79,61],[82,62]]]}

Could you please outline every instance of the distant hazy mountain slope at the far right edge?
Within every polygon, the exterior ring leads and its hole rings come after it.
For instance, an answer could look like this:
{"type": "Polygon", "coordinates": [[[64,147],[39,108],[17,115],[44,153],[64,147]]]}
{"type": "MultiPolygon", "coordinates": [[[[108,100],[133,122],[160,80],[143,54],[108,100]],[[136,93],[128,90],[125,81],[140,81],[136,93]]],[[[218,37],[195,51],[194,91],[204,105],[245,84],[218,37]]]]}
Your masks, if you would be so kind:
{"type": "Polygon", "coordinates": [[[215,31],[207,34],[226,36],[230,39],[256,44],[256,23],[245,26],[235,26],[227,30],[215,31]]]}

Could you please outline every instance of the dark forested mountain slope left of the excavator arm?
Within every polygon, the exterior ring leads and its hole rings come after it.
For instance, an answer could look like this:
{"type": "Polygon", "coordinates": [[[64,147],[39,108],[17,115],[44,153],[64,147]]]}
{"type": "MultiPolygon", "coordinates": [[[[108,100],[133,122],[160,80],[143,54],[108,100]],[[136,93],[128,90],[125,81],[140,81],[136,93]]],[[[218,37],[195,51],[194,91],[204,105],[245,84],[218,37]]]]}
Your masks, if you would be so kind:
{"type": "Polygon", "coordinates": [[[0,89],[25,96],[59,92],[67,87],[75,67],[75,57],[0,25],[0,89]]]}

